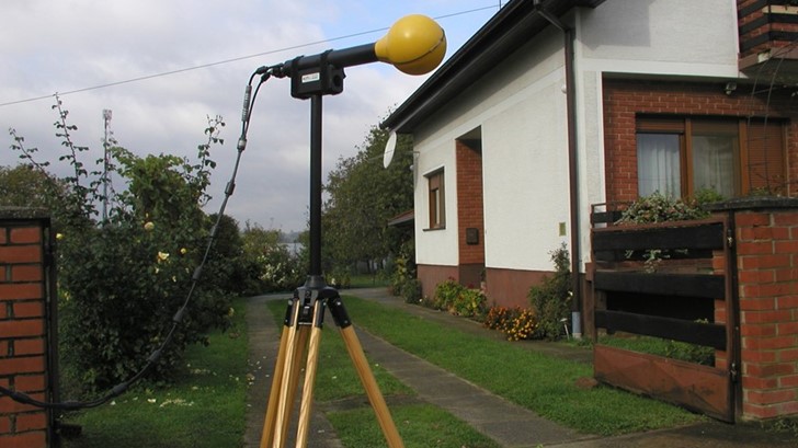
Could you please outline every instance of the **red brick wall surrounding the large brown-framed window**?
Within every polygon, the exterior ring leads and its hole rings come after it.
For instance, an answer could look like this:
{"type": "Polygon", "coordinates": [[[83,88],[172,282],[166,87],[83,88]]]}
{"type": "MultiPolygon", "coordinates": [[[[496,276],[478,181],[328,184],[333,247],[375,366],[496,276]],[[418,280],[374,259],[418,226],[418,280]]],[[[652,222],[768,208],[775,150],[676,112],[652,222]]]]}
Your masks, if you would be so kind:
{"type": "Polygon", "coordinates": [[[752,95],[740,85],[731,95],[722,82],[691,83],[605,79],[604,149],[606,200],[631,202],[638,197],[637,139],[638,114],[711,117],[791,117],[787,126],[787,194],[798,195],[798,116],[791,92],[774,91],[752,95]],[[770,103],[768,103],[770,101],[770,103]]]}

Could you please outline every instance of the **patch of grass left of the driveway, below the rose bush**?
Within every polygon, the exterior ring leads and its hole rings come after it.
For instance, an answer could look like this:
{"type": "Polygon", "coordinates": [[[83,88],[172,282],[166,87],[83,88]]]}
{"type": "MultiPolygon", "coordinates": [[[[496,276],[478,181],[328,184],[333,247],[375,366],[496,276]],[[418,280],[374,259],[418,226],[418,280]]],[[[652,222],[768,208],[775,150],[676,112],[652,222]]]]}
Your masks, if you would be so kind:
{"type": "Polygon", "coordinates": [[[247,328],[244,301],[235,328],[186,353],[187,374],[162,389],[138,386],[113,404],[70,413],[82,435],[65,448],[240,448],[244,428],[247,328]],[[233,336],[233,337],[231,337],[233,336]]]}

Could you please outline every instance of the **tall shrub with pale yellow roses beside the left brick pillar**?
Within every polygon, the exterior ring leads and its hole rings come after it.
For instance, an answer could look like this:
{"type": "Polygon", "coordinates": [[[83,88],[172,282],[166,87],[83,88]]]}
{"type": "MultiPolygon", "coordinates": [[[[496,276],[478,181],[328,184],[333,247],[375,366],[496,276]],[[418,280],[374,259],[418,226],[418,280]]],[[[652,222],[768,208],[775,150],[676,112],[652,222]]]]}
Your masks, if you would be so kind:
{"type": "MultiPolygon", "coordinates": [[[[57,188],[45,192],[47,200],[57,205],[52,212],[58,231],[62,371],[72,388],[101,389],[129,379],[147,364],[186,299],[208,240],[201,207],[208,198],[205,189],[215,166],[209,149],[223,142],[218,133],[224,123],[219,117],[208,119],[207,142],[197,147],[195,161],[169,154],[139,158],[106,147],[109,174],[126,183],[124,191],[115,192],[110,175],[99,169],[89,172],[81,162],[88,148],[75,143],[77,126],[67,123],[60,101],[54,110],[56,136],[64,147],[58,160],[71,169],[56,181],[57,188]],[[99,217],[101,203],[107,214],[99,217]]],[[[48,163],[34,161],[35,148],[12,136],[12,149],[32,169],[46,173],[48,163]]],[[[203,277],[213,277],[209,271],[203,277]]],[[[207,331],[228,324],[229,308],[225,294],[200,283],[173,343],[151,366],[148,378],[169,379],[187,344],[206,342],[207,331]]]]}

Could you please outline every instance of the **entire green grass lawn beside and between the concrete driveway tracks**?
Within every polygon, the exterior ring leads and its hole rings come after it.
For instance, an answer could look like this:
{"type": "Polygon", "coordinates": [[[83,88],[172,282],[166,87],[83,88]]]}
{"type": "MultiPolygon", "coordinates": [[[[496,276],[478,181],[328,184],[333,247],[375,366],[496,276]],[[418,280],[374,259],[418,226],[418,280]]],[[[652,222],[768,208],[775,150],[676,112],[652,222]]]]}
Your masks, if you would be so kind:
{"type": "MultiPolygon", "coordinates": [[[[612,388],[580,390],[590,365],[554,359],[523,349],[522,343],[470,335],[373,301],[346,297],[355,324],[552,421],[579,430],[616,435],[671,427],[702,417],[681,409],[612,388]],[[501,366],[501,368],[497,368],[501,366]]],[[[240,448],[244,430],[247,329],[244,300],[237,300],[236,328],[212,336],[208,347],[186,353],[186,374],[168,388],[144,386],[114,404],[71,413],[66,423],[83,435],[65,448],[240,448]],[[237,337],[231,337],[231,335],[237,337]]],[[[285,302],[270,307],[282,321],[285,302]]],[[[339,410],[339,400],[366,403],[363,387],[331,319],[321,338],[316,400],[347,447],[385,444],[367,404],[339,410]]],[[[491,440],[446,411],[420,404],[414,392],[373,366],[394,421],[408,447],[495,447],[491,440]],[[399,401],[397,401],[399,400],[399,401]]]]}

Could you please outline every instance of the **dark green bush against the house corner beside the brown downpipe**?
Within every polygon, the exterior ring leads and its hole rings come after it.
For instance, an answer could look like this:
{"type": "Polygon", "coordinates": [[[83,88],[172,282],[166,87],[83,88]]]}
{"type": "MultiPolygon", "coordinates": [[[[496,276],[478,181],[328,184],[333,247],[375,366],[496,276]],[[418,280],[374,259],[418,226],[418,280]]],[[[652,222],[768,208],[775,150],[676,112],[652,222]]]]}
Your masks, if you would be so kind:
{"type": "Polygon", "coordinates": [[[529,302],[537,315],[537,329],[534,338],[557,340],[563,328],[562,319],[571,313],[571,269],[568,249],[562,243],[552,251],[551,261],[555,273],[545,276],[539,285],[529,288],[529,302]]]}

